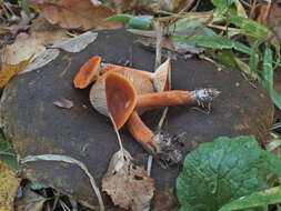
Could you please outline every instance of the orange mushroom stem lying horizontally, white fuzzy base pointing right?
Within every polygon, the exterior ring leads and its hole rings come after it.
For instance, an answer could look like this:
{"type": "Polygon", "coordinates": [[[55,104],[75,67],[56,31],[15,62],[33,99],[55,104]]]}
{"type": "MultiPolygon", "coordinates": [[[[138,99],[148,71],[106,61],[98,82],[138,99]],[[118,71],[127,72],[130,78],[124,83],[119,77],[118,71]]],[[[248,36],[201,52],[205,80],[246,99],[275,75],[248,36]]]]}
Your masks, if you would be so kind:
{"type": "Polygon", "coordinates": [[[210,108],[210,103],[220,94],[215,89],[200,89],[195,91],[163,91],[141,94],[137,100],[137,109],[169,107],[179,104],[198,104],[210,108]]]}

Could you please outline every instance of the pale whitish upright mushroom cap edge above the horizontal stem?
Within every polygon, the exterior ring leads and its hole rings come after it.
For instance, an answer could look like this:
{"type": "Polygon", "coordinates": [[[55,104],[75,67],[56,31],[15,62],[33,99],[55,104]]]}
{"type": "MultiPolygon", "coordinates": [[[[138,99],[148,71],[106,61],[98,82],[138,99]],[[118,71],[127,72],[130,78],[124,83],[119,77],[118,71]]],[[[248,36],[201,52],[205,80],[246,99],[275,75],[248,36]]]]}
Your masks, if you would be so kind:
{"type": "Polygon", "coordinates": [[[152,81],[157,92],[168,90],[168,74],[171,68],[171,59],[168,58],[165,62],[158,67],[153,73],[152,81]]]}

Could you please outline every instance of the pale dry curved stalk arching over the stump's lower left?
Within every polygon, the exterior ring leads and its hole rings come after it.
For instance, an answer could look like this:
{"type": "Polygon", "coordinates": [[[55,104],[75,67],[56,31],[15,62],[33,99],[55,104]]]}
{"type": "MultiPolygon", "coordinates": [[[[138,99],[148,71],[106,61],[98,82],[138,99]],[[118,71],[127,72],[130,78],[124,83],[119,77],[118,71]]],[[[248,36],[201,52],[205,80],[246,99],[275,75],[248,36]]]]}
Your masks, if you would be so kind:
{"type": "Polygon", "coordinates": [[[84,171],[84,173],[88,175],[88,178],[90,179],[90,183],[92,185],[92,189],[93,189],[93,191],[98,198],[99,204],[100,204],[100,210],[104,211],[104,204],[103,204],[103,201],[101,198],[100,189],[97,185],[93,177],[91,175],[91,173],[89,172],[89,170],[84,163],[82,163],[79,160],[76,160],[71,157],[62,155],[62,154],[28,155],[28,157],[21,159],[21,163],[34,162],[34,161],[39,161],[39,160],[67,162],[67,163],[77,164],[78,167],[80,167],[80,169],[82,169],[84,171]]]}

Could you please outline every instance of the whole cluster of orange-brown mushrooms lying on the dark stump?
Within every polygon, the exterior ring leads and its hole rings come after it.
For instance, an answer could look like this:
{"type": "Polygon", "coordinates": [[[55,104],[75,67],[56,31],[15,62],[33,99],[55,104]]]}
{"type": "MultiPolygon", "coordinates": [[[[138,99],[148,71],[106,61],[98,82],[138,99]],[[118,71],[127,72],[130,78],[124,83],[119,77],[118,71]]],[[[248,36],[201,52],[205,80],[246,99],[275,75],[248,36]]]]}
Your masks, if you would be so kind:
{"type": "MultiPolygon", "coordinates": [[[[163,140],[155,135],[141,120],[145,110],[159,107],[193,104],[210,108],[219,96],[215,89],[194,91],[168,90],[171,59],[168,58],[151,73],[129,67],[101,62],[94,56],[76,74],[76,88],[90,90],[90,102],[100,113],[113,118],[118,129],[127,124],[133,138],[153,157],[163,152],[163,140]]],[[[171,158],[169,158],[171,159],[171,158]]]]}

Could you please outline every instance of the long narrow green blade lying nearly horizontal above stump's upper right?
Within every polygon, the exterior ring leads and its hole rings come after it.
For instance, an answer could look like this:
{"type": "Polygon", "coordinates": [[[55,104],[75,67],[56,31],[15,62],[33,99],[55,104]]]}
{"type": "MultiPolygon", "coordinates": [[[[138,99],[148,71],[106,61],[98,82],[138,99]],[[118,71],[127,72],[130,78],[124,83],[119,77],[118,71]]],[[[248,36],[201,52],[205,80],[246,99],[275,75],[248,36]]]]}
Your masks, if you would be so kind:
{"type": "Polygon", "coordinates": [[[221,38],[219,36],[193,36],[185,38],[184,36],[173,36],[172,39],[178,42],[184,42],[188,44],[197,44],[199,47],[211,49],[235,49],[240,52],[251,54],[251,49],[245,44],[230,40],[228,38],[221,38]]]}

